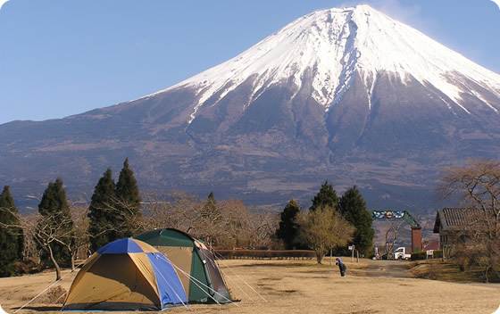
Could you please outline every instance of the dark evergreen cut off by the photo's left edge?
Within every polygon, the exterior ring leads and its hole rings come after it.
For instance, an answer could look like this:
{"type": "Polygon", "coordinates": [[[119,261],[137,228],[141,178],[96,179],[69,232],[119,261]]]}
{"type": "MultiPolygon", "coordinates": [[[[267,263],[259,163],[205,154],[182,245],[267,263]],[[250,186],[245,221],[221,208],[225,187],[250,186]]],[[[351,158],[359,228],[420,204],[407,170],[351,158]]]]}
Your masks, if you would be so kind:
{"type": "Polygon", "coordinates": [[[0,223],[7,226],[0,227],[0,276],[10,276],[9,265],[22,259],[24,237],[9,186],[0,194],[0,223]]]}

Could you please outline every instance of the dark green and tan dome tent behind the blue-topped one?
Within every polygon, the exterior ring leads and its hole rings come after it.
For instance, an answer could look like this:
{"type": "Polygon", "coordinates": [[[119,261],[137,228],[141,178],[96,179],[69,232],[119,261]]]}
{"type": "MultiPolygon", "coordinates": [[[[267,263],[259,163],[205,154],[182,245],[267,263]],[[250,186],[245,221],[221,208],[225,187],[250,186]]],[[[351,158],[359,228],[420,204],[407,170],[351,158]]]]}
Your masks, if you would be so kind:
{"type": "Polygon", "coordinates": [[[173,228],[146,231],[134,238],[154,246],[180,269],[189,302],[231,302],[212,252],[201,241],[173,228]]]}

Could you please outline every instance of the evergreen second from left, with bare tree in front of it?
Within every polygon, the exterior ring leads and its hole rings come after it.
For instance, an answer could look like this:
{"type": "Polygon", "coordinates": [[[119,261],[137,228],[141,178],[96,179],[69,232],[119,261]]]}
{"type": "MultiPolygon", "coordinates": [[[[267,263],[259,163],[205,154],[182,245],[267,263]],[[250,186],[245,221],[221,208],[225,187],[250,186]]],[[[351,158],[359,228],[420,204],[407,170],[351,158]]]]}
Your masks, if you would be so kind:
{"type": "MultiPolygon", "coordinates": [[[[38,212],[43,219],[38,224],[38,229],[43,231],[46,236],[43,240],[50,240],[50,250],[54,255],[54,260],[61,266],[71,266],[71,252],[68,246],[73,241],[71,230],[73,222],[70,214],[70,206],[66,198],[66,190],[63,187],[63,180],[57,178],[55,182],[50,182],[38,204],[38,212]],[[54,231],[55,230],[55,231],[54,231]],[[48,236],[50,235],[50,236],[48,236]]],[[[39,235],[42,233],[38,232],[39,235]]],[[[41,244],[44,245],[44,244],[41,244]]],[[[46,263],[50,256],[47,251],[42,254],[42,260],[46,263]]],[[[59,265],[54,265],[57,269],[59,265]]]]}

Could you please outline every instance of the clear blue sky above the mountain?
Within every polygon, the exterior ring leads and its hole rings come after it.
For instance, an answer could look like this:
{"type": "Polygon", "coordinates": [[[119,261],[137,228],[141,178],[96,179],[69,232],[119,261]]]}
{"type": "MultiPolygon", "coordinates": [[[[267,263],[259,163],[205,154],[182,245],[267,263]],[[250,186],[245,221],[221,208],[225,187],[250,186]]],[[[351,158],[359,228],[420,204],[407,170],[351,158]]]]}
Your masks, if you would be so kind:
{"type": "Polygon", "coordinates": [[[355,4],[500,73],[500,8],[492,0],[0,0],[0,124],[152,94],[309,12],[355,4]]]}

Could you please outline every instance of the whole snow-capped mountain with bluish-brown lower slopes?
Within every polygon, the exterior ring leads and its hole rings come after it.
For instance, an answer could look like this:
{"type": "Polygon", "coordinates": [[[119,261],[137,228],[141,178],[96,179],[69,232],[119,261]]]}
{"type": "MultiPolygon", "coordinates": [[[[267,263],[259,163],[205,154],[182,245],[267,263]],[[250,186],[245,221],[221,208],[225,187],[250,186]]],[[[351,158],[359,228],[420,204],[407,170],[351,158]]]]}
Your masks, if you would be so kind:
{"type": "Polygon", "coordinates": [[[421,209],[443,166],[500,156],[500,75],[358,5],[153,95],[4,124],[0,145],[0,180],[24,194],[57,177],[89,194],[129,157],[147,190],[282,205],[328,179],[371,208],[421,209]]]}

